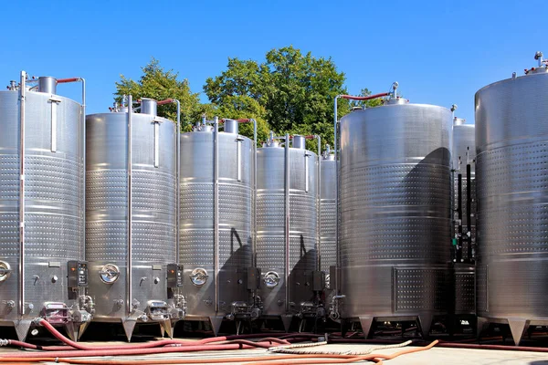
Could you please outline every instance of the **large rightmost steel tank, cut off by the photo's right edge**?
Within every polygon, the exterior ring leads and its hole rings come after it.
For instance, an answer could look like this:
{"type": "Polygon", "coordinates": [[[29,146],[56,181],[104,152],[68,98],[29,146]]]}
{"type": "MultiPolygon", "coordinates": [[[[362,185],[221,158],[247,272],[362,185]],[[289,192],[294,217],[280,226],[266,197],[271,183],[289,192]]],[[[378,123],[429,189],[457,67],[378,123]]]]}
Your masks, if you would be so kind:
{"type": "Polygon", "coordinates": [[[476,93],[479,329],[508,323],[516,344],[548,324],[548,67],[535,59],[476,93]]]}

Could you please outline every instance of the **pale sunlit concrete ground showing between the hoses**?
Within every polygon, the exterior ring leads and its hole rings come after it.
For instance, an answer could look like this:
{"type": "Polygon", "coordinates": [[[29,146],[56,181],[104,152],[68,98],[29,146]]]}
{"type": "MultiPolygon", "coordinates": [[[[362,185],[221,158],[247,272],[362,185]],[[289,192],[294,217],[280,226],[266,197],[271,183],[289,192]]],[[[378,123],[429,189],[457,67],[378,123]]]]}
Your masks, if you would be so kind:
{"type": "MultiPolygon", "coordinates": [[[[107,342],[109,345],[113,345],[114,342],[107,342]]],[[[121,343],[121,342],[119,342],[121,343]]],[[[88,345],[104,345],[105,342],[86,342],[88,345]]],[[[318,347],[307,348],[308,350],[326,350],[326,351],[368,351],[377,348],[379,345],[324,345],[318,347]]],[[[412,347],[406,347],[406,349],[412,347]]],[[[401,349],[376,349],[374,353],[379,354],[392,354],[401,349]]],[[[7,352],[13,353],[16,356],[17,353],[23,353],[16,349],[0,348],[0,355],[4,355],[7,352]]],[[[24,351],[27,353],[28,351],[24,351]]],[[[43,353],[41,353],[42,355],[43,353]]],[[[162,354],[162,355],[148,355],[139,358],[136,357],[116,357],[116,358],[86,358],[96,360],[163,360],[163,359],[181,359],[181,360],[194,360],[194,359],[234,359],[234,358],[252,358],[266,355],[273,355],[267,349],[240,349],[230,351],[202,351],[194,353],[179,353],[179,354],[162,354]]],[[[284,355],[279,354],[280,359],[284,355]]],[[[1,363],[1,362],[0,362],[1,363]]],[[[226,364],[234,364],[235,362],[224,362],[226,364]]],[[[245,362],[237,362],[245,363],[245,362]]],[[[288,363],[291,363],[290,361],[288,363]]],[[[365,363],[365,362],[362,362],[365,363]]],[[[54,364],[51,362],[51,364],[54,364]]],[[[501,350],[489,350],[489,349],[447,349],[447,348],[433,348],[422,352],[416,352],[411,354],[402,355],[394,360],[385,360],[387,365],[419,365],[419,364],[440,364],[440,365],[461,365],[461,364],[474,364],[474,365],[491,365],[491,364],[515,364],[515,365],[548,365],[548,353],[542,352],[525,352],[525,351],[501,351],[501,350]]]]}

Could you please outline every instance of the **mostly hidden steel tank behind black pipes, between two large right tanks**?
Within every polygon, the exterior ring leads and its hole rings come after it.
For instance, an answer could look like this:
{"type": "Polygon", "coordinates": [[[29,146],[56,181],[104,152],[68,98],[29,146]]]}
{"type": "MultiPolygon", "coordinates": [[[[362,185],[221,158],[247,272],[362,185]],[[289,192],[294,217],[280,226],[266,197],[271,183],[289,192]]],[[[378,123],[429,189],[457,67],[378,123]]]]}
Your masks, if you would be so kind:
{"type": "Polygon", "coordinates": [[[453,211],[455,212],[455,237],[458,239],[458,175],[461,175],[460,203],[462,210],[461,235],[462,258],[455,263],[455,313],[474,314],[476,312],[476,284],[475,266],[472,264],[473,247],[476,242],[476,130],[473,124],[466,124],[466,120],[453,119],[453,169],[454,197],[453,211]],[[468,169],[470,170],[470,224],[468,230],[468,169]],[[469,232],[469,235],[468,235],[469,232]]]}

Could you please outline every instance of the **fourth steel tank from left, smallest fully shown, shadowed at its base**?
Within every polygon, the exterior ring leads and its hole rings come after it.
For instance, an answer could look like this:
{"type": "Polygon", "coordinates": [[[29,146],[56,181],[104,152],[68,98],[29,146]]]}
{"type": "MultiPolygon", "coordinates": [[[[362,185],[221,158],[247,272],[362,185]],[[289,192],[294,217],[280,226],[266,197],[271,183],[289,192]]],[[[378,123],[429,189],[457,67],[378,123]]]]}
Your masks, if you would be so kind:
{"type": "Polygon", "coordinates": [[[260,297],[264,315],[282,318],[313,299],[311,272],[317,265],[318,162],[316,154],[305,149],[303,137],[292,141],[292,147],[268,141],[257,151],[260,297]]]}

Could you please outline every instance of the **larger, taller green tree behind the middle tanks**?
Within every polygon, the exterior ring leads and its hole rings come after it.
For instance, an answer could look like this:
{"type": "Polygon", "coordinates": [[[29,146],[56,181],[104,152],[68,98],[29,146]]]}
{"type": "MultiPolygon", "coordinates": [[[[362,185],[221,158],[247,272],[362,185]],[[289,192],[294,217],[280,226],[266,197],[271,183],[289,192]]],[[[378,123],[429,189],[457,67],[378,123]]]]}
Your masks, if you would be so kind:
{"type": "MultiPolygon", "coordinates": [[[[276,133],[319,134],[322,144],[332,144],[333,99],[346,93],[344,80],[331,58],[312,57],[290,46],[270,50],[260,64],[229,58],[227,69],[207,78],[204,90],[219,108],[234,97],[256,100],[276,133]]],[[[237,110],[250,112],[245,109],[249,105],[237,110]]],[[[350,103],[341,100],[339,117],[349,110],[350,103]]],[[[315,151],[315,142],[309,141],[308,147],[315,151]]]]}

